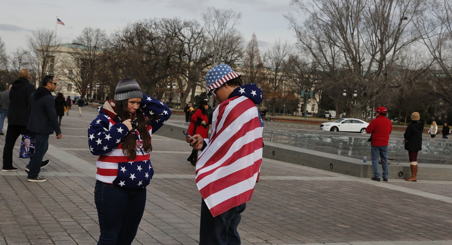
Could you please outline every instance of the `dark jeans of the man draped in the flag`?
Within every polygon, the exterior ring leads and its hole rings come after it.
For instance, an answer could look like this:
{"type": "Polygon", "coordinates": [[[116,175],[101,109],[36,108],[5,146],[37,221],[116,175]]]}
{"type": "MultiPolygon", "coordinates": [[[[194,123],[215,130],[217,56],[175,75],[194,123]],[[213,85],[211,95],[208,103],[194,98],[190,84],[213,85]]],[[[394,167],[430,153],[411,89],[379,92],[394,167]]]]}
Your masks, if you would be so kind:
{"type": "Polygon", "coordinates": [[[238,205],[216,217],[212,216],[207,205],[201,202],[200,245],[238,245],[240,236],[237,226],[246,203],[238,205]]]}

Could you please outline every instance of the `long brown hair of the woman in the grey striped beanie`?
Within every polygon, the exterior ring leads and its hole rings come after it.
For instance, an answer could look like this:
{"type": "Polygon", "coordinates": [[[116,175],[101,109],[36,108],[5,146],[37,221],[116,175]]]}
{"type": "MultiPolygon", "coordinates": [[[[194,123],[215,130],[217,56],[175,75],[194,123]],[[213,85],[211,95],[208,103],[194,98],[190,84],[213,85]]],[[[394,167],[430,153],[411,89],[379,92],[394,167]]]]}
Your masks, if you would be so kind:
{"type": "MultiPolygon", "coordinates": [[[[129,99],[127,100],[119,100],[116,101],[116,113],[121,121],[129,119],[129,113],[127,112],[127,106],[129,104],[129,99]]],[[[150,119],[146,118],[143,115],[143,111],[138,108],[135,111],[135,118],[137,124],[137,130],[140,133],[140,138],[143,141],[143,151],[149,153],[152,151],[151,145],[151,136],[149,135],[149,131],[146,128],[146,125],[149,124],[150,119]]],[[[131,118],[134,121],[134,118],[131,118]]],[[[136,157],[136,140],[137,137],[135,134],[129,133],[124,137],[124,142],[122,143],[122,152],[125,156],[127,156],[130,160],[134,160],[136,157]]]]}

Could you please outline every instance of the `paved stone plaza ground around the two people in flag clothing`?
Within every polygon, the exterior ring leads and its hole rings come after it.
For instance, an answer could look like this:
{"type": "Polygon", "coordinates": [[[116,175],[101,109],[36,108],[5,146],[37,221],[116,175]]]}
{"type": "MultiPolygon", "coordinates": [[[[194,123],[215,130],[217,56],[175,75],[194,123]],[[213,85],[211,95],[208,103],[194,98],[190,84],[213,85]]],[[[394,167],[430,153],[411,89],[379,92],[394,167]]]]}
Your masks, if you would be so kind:
{"type": "MultiPolygon", "coordinates": [[[[50,137],[50,165],[41,171],[47,182],[27,182],[17,140],[19,171],[0,173],[0,245],[96,244],[97,157],[88,150],[86,129],[97,112],[83,109],[81,117],[76,109],[63,117],[63,138],[50,137]]],[[[286,127],[271,123],[278,125],[286,127]]],[[[182,133],[180,139],[152,137],[155,175],[134,245],[198,244],[201,197],[183,139],[182,133]]],[[[1,153],[3,144],[0,136],[1,153]]],[[[450,245],[451,189],[447,181],[375,182],[264,159],[239,233],[244,245],[450,245]]]]}

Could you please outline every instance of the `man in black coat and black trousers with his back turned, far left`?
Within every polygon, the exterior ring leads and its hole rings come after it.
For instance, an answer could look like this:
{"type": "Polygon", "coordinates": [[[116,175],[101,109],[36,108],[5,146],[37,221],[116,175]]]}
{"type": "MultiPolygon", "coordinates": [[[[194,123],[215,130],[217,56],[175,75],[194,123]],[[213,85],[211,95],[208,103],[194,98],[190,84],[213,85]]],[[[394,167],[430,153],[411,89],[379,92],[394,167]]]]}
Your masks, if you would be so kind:
{"type": "Polygon", "coordinates": [[[19,71],[9,93],[10,105],[8,107],[8,128],[6,129],[5,145],[3,146],[2,171],[17,171],[13,167],[13,149],[17,138],[26,134],[29,118],[29,99],[35,88],[30,83],[30,72],[27,69],[19,71]]]}

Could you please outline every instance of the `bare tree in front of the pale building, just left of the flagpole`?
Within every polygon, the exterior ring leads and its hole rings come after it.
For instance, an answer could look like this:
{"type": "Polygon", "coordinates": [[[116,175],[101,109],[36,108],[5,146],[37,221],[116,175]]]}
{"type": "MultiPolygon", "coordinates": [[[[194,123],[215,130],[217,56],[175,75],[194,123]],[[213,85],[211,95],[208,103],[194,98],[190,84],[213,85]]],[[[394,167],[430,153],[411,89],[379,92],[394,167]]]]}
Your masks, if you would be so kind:
{"type": "Polygon", "coordinates": [[[47,29],[34,31],[27,37],[28,46],[31,51],[33,69],[30,70],[32,83],[41,81],[48,73],[54,72],[54,65],[57,63],[57,50],[59,42],[56,39],[55,32],[47,29]]]}

